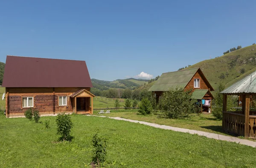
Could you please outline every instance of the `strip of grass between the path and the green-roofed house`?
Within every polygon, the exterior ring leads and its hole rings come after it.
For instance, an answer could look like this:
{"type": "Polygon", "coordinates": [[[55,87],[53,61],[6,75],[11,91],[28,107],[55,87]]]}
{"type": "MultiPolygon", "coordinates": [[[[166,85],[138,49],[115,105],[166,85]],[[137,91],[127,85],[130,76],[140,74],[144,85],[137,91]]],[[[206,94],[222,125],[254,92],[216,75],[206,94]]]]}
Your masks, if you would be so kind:
{"type": "Polygon", "coordinates": [[[111,116],[111,117],[121,117],[124,119],[133,119],[144,122],[151,122],[160,125],[169,125],[172,127],[180,127],[187,128],[191,130],[201,130],[209,133],[218,133],[222,135],[227,135],[222,131],[221,125],[222,121],[216,120],[212,114],[201,114],[200,116],[192,115],[190,119],[165,119],[159,118],[157,115],[140,115],[137,110],[123,110],[123,112],[111,111],[110,114],[96,114],[95,115],[103,115],[103,116],[111,116]]]}

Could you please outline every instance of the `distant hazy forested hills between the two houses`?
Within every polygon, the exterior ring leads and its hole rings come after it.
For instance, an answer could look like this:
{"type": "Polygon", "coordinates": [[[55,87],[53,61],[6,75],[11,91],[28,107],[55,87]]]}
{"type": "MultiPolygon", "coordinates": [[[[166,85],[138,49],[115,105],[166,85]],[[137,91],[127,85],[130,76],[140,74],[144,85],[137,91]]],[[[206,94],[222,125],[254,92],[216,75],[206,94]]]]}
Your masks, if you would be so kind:
{"type": "Polygon", "coordinates": [[[108,90],[110,88],[121,88],[126,89],[129,88],[133,90],[136,87],[140,87],[142,85],[147,84],[147,79],[116,79],[114,81],[103,81],[98,79],[91,79],[93,87],[99,90],[108,90]]]}

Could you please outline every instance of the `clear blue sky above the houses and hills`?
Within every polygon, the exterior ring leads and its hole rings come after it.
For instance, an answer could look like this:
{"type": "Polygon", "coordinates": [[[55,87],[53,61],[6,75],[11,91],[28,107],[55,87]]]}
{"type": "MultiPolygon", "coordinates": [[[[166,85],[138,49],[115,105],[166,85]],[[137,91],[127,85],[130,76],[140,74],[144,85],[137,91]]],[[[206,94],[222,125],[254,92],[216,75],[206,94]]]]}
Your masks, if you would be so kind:
{"type": "Polygon", "coordinates": [[[255,0],[1,1],[0,61],[85,60],[91,78],[155,77],[255,43],[255,7],[255,0]]]}

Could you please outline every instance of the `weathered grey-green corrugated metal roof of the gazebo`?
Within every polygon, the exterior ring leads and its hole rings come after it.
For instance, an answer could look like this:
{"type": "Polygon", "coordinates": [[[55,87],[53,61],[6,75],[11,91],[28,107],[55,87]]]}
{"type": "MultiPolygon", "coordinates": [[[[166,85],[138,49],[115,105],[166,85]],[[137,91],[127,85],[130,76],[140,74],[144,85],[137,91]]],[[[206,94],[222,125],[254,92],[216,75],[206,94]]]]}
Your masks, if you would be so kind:
{"type": "Polygon", "coordinates": [[[237,81],[221,93],[236,94],[236,93],[256,93],[256,71],[237,81]]]}

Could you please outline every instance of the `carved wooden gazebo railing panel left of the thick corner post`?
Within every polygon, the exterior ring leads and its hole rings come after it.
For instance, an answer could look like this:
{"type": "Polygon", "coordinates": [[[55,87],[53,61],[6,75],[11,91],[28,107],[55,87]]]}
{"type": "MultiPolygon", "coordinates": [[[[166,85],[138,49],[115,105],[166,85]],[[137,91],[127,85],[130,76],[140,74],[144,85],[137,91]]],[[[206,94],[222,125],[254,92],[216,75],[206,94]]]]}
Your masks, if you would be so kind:
{"type": "Polygon", "coordinates": [[[223,112],[222,129],[239,136],[244,135],[244,114],[223,112]]]}

